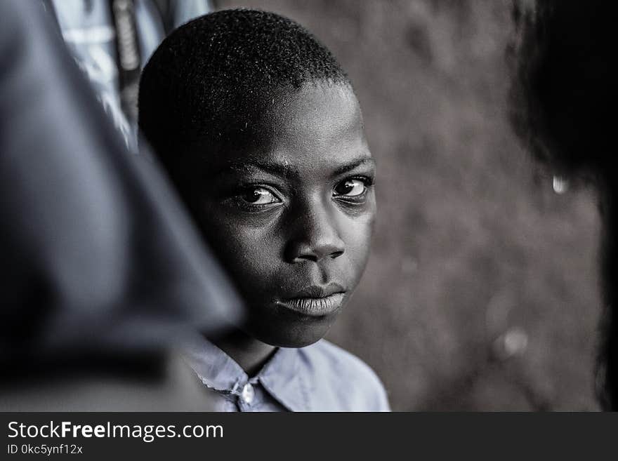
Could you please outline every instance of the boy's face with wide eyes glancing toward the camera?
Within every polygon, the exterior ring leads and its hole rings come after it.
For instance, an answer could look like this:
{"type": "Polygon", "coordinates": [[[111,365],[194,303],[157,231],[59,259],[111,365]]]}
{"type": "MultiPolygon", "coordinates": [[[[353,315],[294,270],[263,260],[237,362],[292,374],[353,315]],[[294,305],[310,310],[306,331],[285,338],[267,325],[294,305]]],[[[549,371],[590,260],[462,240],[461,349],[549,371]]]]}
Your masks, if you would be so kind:
{"type": "Polygon", "coordinates": [[[366,265],[374,161],[347,86],[308,83],[272,102],[209,155],[198,218],[249,308],[244,330],[303,347],[327,333],[366,265]]]}

